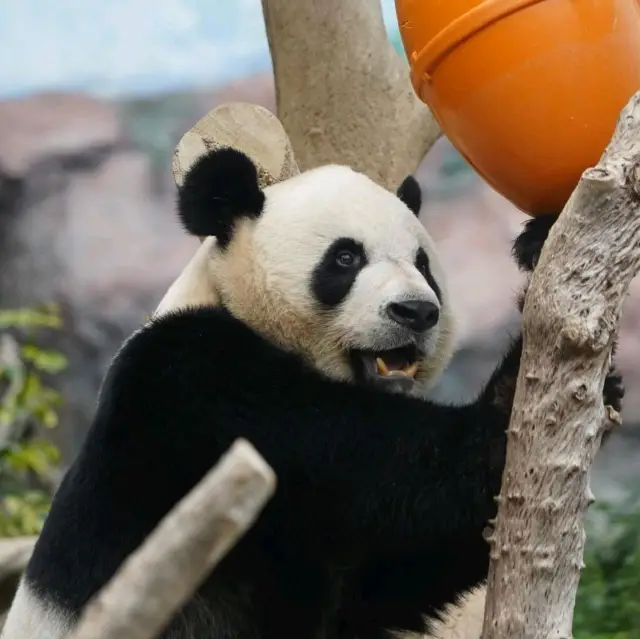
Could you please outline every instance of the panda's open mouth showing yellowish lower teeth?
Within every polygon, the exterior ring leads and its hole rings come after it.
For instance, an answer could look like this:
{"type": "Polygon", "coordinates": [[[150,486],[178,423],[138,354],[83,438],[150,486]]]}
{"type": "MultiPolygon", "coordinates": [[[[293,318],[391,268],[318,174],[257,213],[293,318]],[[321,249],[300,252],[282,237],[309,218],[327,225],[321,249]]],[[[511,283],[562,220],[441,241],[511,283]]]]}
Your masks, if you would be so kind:
{"type": "Polygon", "coordinates": [[[414,345],[386,351],[351,351],[356,378],[365,384],[408,390],[413,387],[421,354],[414,345]]]}

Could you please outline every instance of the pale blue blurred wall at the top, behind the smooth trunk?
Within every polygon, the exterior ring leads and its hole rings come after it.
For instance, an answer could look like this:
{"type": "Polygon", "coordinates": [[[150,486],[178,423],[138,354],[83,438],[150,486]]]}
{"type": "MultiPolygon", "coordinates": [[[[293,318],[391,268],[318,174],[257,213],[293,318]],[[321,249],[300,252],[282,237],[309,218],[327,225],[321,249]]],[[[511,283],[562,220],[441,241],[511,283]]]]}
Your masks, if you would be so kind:
{"type": "Polygon", "coordinates": [[[0,0],[0,98],[145,95],[269,68],[260,0],[0,0]]]}

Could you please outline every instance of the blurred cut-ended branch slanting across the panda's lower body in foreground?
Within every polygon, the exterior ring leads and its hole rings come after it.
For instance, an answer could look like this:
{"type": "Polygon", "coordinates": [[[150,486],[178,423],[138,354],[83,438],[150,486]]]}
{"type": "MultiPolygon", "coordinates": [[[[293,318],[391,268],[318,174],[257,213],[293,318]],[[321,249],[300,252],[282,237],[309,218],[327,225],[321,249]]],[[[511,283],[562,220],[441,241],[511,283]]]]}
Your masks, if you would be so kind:
{"type": "Polygon", "coordinates": [[[73,639],[150,639],[253,524],[275,490],[245,440],[158,524],[88,604],[73,639]]]}

